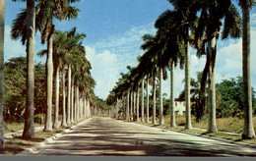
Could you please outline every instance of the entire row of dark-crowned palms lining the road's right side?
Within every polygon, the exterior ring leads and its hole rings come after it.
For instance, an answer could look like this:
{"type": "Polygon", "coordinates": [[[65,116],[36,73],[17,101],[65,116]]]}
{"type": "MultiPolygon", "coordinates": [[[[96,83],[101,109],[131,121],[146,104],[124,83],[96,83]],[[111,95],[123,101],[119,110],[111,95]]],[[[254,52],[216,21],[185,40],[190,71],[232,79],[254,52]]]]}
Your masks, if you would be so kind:
{"type": "MultiPolygon", "coordinates": [[[[252,124],[252,99],[250,80],[250,21],[249,12],[254,2],[252,0],[239,0],[242,9],[242,18],[231,0],[168,0],[174,7],[173,10],[163,12],[155,23],[156,35],[145,34],[141,48],[144,55],[139,58],[139,64],[135,68],[129,68],[128,74],[122,74],[122,78],[112,89],[116,98],[127,96],[126,119],[132,113],[137,112],[132,108],[135,99],[132,97],[135,91],[139,91],[140,83],[144,86],[146,80],[153,84],[153,124],[156,124],[156,82],[159,82],[160,93],[160,125],[162,117],[162,75],[165,68],[170,70],[170,126],[175,127],[174,116],[174,68],[179,63],[180,68],[185,68],[185,129],[191,129],[190,110],[190,46],[197,49],[197,56],[206,55],[207,61],[200,83],[200,96],[208,97],[209,125],[208,133],[218,132],[216,126],[216,88],[215,65],[217,56],[217,39],[227,37],[238,38],[242,36],[243,55],[243,85],[244,85],[244,131],[242,138],[255,137],[252,124]],[[223,30],[221,30],[223,27],[223,30]],[[156,81],[158,78],[159,81],[156,81]],[[208,92],[206,92],[208,85],[208,92]],[[130,96],[130,99],[128,98],[130,96]],[[130,102],[129,102],[130,101],[130,102]],[[129,104],[131,107],[129,108],[129,104]]],[[[148,85],[147,85],[147,113],[149,111],[148,85]]],[[[144,89],[142,87],[142,93],[144,89]]],[[[138,95],[138,94],[137,94],[138,95]]],[[[143,95],[143,94],[142,94],[143,95]]],[[[144,97],[142,97],[142,116],[144,111],[144,97]]],[[[138,102],[138,101],[137,101],[138,102]]],[[[133,105],[135,107],[135,105],[133,105]]],[[[137,105],[137,109],[139,106],[137,105]]],[[[202,109],[205,107],[201,107],[202,109]]],[[[206,110],[203,110],[206,111],[206,110]]],[[[146,122],[149,120],[147,114],[146,122]]],[[[137,119],[138,121],[138,119],[137,119]]]]}

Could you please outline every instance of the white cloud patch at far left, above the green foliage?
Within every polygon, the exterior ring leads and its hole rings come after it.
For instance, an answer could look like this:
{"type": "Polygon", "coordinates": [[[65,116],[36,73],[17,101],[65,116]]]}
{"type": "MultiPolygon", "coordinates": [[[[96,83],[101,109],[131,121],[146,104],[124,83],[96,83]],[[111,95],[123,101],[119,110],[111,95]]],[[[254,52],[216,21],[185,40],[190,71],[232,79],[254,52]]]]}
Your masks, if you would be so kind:
{"type": "Polygon", "coordinates": [[[22,45],[20,40],[13,40],[11,38],[11,27],[5,26],[5,47],[4,47],[4,59],[5,62],[13,57],[26,57],[26,46],[22,45]]]}

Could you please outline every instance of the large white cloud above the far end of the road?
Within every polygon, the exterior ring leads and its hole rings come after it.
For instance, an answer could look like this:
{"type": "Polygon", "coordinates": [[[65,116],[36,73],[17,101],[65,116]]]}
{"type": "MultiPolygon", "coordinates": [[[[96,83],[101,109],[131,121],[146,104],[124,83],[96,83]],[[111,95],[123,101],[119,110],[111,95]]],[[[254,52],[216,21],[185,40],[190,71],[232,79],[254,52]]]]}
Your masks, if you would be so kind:
{"type": "Polygon", "coordinates": [[[105,99],[119,77],[116,55],[105,50],[96,53],[96,49],[86,46],[86,57],[92,64],[92,76],[96,80],[95,93],[105,99]]]}

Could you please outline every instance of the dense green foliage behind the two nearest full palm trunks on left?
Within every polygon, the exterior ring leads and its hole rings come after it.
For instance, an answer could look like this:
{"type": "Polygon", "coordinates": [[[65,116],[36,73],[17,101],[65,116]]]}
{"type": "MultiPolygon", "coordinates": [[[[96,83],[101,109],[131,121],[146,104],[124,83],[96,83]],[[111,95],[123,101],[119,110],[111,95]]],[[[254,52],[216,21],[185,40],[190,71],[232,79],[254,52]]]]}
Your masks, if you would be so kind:
{"type": "MultiPolygon", "coordinates": [[[[4,65],[4,119],[8,122],[23,122],[26,107],[25,57],[9,59],[4,65]]],[[[45,111],[45,68],[34,66],[34,114],[45,111]]]]}

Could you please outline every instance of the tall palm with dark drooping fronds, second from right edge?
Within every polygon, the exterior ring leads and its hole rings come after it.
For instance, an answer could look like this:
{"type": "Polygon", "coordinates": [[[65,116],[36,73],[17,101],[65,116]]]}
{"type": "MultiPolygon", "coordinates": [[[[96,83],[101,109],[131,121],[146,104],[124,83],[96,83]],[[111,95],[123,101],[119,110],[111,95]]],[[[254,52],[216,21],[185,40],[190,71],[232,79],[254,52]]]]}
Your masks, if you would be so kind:
{"type": "Polygon", "coordinates": [[[224,20],[222,39],[228,36],[236,38],[240,36],[241,19],[238,11],[230,0],[204,0],[200,1],[201,15],[198,27],[195,29],[196,46],[199,46],[198,55],[207,55],[207,62],[203,71],[201,88],[205,90],[208,79],[209,86],[209,125],[208,133],[216,133],[216,89],[215,89],[215,65],[217,56],[217,39],[224,20]],[[199,43],[199,44],[197,44],[199,43]],[[207,44],[207,53],[205,46],[207,44]]]}

